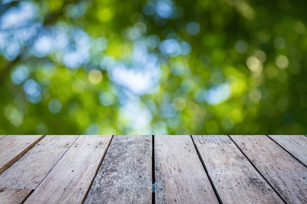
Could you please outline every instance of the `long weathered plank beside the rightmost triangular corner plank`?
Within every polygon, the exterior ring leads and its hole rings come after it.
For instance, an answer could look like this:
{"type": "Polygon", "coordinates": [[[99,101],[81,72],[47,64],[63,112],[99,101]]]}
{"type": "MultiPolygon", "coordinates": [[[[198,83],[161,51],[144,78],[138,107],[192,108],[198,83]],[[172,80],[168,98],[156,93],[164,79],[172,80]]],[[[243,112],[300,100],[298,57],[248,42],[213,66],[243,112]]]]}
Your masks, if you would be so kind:
{"type": "Polygon", "coordinates": [[[231,136],[287,203],[307,203],[307,168],[265,135],[231,136]]]}

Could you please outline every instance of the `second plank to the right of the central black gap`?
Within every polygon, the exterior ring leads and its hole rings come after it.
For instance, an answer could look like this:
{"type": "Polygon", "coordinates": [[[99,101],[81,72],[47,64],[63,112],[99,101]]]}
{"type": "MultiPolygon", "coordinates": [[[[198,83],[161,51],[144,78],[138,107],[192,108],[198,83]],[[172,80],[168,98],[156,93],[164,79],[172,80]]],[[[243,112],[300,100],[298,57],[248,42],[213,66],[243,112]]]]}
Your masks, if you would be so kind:
{"type": "Polygon", "coordinates": [[[224,204],[283,203],[228,136],[192,137],[224,204]]]}

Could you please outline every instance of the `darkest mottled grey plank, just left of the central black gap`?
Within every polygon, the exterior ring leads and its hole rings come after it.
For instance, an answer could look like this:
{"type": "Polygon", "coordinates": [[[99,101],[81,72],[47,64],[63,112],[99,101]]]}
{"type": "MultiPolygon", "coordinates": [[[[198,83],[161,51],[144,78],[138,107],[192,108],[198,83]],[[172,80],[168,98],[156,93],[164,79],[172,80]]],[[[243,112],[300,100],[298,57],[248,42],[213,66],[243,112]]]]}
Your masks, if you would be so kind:
{"type": "Polygon", "coordinates": [[[152,136],[114,136],[83,203],[151,203],[152,136]]]}

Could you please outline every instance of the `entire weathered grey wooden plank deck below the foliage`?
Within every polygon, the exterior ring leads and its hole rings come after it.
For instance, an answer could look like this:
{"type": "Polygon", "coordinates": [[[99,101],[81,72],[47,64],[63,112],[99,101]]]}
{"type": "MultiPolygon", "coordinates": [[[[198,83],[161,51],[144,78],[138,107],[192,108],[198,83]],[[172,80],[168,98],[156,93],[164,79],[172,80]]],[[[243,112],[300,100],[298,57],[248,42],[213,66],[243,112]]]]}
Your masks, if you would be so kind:
{"type": "Polygon", "coordinates": [[[304,135],[0,136],[0,204],[307,203],[304,135]]]}

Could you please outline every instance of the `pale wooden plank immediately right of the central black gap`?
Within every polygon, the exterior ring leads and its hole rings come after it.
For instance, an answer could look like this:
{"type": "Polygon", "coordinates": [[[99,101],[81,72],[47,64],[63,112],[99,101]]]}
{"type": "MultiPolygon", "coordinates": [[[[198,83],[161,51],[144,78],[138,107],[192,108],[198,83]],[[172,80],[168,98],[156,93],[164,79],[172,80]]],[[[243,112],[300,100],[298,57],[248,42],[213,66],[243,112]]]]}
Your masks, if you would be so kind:
{"type": "Polygon", "coordinates": [[[155,136],[156,203],[218,203],[188,135],[155,136]]]}

